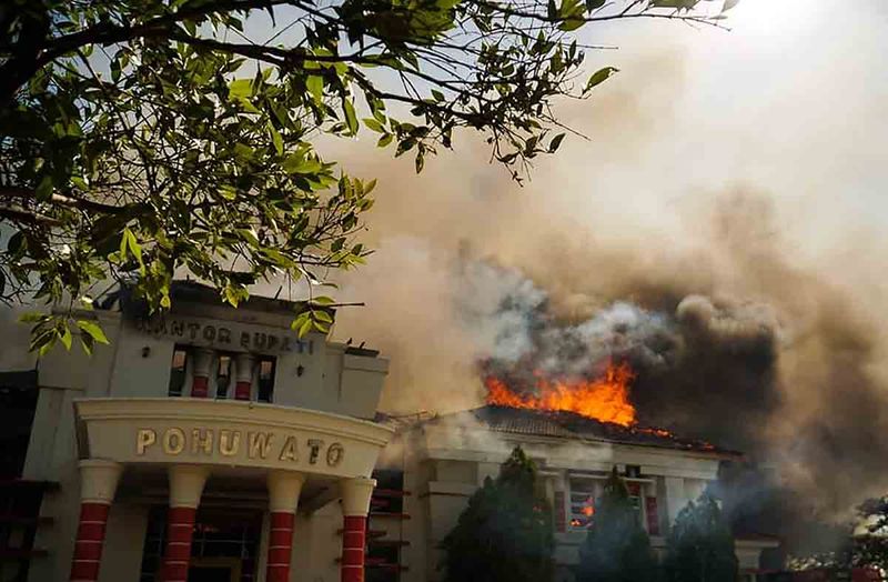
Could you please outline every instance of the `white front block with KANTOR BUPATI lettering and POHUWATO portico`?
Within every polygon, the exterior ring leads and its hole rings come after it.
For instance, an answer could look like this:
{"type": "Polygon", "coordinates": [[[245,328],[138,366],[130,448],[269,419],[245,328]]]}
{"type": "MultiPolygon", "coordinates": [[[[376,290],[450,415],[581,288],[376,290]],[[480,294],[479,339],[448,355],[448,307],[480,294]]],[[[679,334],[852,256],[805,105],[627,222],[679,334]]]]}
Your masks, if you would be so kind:
{"type": "Polygon", "coordinates": [[[363,580],[387,361],[297,340],[289,302],[173,295],[163,319],[109,302],[110,345],[23,372],[7,318],[0,580],[363,580]]]}

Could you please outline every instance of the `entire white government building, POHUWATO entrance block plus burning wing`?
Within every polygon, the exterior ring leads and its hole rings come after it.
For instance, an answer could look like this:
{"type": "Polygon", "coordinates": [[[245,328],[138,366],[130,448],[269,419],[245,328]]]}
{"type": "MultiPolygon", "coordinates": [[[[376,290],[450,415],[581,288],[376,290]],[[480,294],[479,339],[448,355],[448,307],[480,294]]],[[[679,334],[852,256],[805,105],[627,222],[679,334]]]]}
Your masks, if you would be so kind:
{"type": "MultiPolygon", "coordinates": [[[[172,295],[162,320],[125,294],[92,312],[111,341],[92,358],[36,361],[27,327],[0,319],[1,582],[436,581],[437,544],[515,444],[541,466],[569,580],[614,465],[662,546],[734,455],[493,407],[394,422],[376,412],[387,360],[299,341],[293,303],[172,295]]],[[[738,540],[741,565],[774,545],[738,540]]]]}

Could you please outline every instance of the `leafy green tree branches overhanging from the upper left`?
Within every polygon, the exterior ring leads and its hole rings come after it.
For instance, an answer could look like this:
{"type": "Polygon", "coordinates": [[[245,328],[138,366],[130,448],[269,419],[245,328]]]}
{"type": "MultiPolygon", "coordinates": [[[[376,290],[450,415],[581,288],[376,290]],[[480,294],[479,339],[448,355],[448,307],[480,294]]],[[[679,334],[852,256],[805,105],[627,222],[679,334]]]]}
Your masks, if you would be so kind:
{"type": "MultiPolygon", "coordinates": [[[[420,171],[471,128],[519,179],[564,138],[553,102],[615,72],[581,82],[574,31],[720,17],[702,1],[8,0],[0,297],[61,308],[34,320],[42,350],[70,344],[75,309],[109,280],[152,310],[170,307],[173,274],[232,305],[271,278],[317,287],[367,255],[374,187],[319,136],[369,131],[420,171]]],[[[332,300],[311,294],[301,333],[330,323],[311,307],[332,300]]]]}

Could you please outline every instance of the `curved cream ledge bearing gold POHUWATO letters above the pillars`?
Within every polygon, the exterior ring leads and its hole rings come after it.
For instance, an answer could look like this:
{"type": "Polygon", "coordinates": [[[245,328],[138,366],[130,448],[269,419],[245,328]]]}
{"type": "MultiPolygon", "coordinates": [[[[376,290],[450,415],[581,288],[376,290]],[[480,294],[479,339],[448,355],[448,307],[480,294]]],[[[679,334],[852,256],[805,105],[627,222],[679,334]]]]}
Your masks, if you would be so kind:
{"type": "Polygon", "coordinates": [[[81,459],[370,476],[393,430],[295,407],[199,398],[74,400],[81,459]]]}

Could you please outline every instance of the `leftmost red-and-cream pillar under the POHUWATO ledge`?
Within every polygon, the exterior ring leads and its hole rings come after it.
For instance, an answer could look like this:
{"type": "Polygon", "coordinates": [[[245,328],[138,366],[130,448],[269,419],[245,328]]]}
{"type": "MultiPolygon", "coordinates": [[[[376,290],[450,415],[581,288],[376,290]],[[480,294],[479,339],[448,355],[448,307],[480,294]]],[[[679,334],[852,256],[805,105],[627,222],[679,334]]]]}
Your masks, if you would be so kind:
{"type": "Polygon", "coordinates": [[[113,461],[80,461],[80,522],[71,560],[72,582],[95,582],[102,561],[108,511],[123,465],[113,461]]]}

